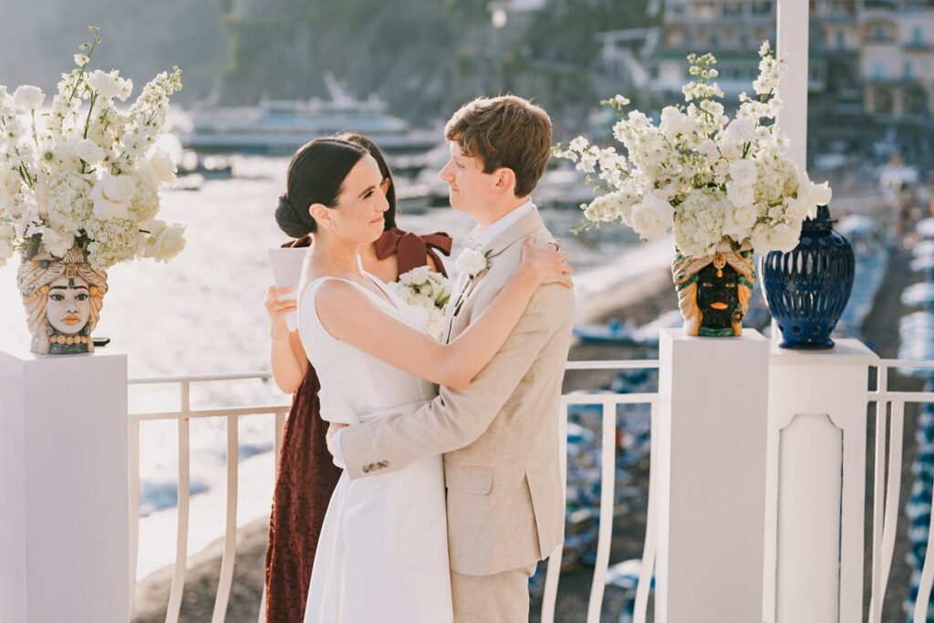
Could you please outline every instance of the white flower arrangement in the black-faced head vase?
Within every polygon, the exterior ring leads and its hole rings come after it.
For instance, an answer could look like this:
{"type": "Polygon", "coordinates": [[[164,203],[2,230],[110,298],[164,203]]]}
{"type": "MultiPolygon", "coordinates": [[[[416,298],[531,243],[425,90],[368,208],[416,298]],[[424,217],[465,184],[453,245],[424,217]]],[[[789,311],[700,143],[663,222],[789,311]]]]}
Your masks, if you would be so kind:
{"type": "Polygon", "coordinates": [[[827,182],[814,184],[787,157],[788,140],[774,124],[785,64],[773,57],[768,41],[759,57],[757,97],[742,93],[733,120],[716,101],[723,92],[712,81],[712,54],[687,57],[696,78],[682,89],[687,104],[662,109],[658,126],[638,110],[624,114],[630,101],[622,95],[602,102],[619,114],[614,135],[625,156],[583,136],[567,149],[555,148],[556,156],[600,179],[601,194],[581,205],[585,218],[622,221],[644,240],[673,229],[686,257],[713,255],[724,237],[734,248],[751,246],[759,253],[795,248],[803,220],[814,218],[832,193],[827,182]]]}

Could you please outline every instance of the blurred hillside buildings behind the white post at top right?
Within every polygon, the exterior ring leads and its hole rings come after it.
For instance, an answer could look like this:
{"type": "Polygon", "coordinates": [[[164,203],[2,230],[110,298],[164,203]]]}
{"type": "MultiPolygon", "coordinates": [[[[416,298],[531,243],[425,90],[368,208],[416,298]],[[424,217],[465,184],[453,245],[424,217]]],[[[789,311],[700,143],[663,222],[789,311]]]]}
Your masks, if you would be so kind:
{"type": "MultiPolygon", "coordinates": [[[[810,0],[812,113],[901,122],[934,116],[934,2],[810,0]]],[[[775,0],[665,0],[659,25],[601,33],[601,78],[659,102],[680,98],[685,57],[713,52],[726,104],[751,92],[775,42],[775,0]]]]}

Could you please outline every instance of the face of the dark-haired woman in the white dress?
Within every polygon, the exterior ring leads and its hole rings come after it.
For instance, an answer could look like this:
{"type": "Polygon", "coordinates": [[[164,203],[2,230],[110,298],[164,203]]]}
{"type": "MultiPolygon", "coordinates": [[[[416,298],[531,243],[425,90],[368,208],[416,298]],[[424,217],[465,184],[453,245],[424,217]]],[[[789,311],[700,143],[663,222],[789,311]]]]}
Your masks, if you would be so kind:
{"type": "Polygon", "coordinates": [[[337,205],[327,208],[329,234],[358,243],[370,243],[383,234],[384,213],[389,209],[386,185],[379,165],[366,155],[350,169],[341,185],[337,205]]]}

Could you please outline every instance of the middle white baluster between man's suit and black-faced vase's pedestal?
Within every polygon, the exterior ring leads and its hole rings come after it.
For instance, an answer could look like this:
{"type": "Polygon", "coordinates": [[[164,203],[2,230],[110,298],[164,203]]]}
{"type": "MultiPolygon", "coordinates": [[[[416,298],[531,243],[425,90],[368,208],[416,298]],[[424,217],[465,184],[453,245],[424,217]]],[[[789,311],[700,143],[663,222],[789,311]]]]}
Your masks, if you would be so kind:
{"type": "Polygon", "coordinates": [[[613,538],[614,493],[616,489],[616,400],[603,402],[600,476],[600,528],[597,533],[597,562],[587,604],[587,623],[600,623],[606,570],[610,565],[613,538]]]}

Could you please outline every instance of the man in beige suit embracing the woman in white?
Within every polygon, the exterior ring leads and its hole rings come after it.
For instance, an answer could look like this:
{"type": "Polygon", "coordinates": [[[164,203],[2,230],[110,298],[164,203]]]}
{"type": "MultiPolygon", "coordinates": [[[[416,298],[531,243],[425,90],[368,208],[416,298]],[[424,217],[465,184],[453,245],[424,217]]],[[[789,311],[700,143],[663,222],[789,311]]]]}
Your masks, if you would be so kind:
{"type": "MultiPolygon", "coordinates": [[[[476,219],[465,246],[482,254],[459,262],[475,266],[451,295],[452,340],[517,270],[524,240],[552,240],[530,198],[550,155],[551,120],[520,97],[479,98],[454,114],[445,135],[451,159],[441,177],[451,205],[476,219]]],[[[331,441],[351,478],[445,453],[456,623],[528,621],[529,577],[562,542],[558,417],[573,315],[573,290],[539,287],[468,388],[442,387],[414,413],[342,429],[331,441]]]]}

